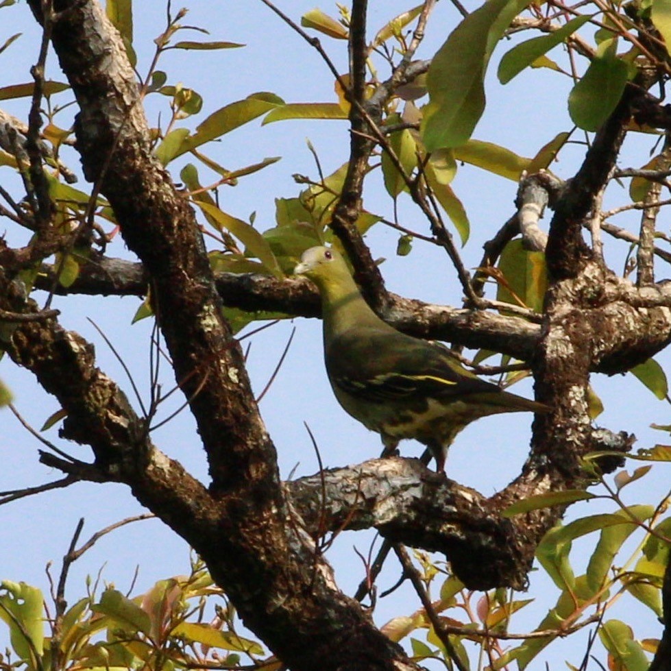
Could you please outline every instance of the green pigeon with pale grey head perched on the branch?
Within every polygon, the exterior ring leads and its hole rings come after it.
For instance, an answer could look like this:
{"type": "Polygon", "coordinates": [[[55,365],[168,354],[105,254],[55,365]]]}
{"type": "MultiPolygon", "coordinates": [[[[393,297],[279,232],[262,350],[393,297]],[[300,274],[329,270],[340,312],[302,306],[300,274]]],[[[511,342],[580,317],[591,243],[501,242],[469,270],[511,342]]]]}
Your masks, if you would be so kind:
{"type": "Polygon", "coordinates": [[[445,345],[380,319],[336,249],[310,247],[294,274],[319,289],[324,361],[334,395],[354,419],[380,434],[383,455],[398,454],[400,440],[415,439],[435,458],[437,472],[444,472],[454,437],[475,419],[548,411],[545,404],[481,380],[445,345]]]}

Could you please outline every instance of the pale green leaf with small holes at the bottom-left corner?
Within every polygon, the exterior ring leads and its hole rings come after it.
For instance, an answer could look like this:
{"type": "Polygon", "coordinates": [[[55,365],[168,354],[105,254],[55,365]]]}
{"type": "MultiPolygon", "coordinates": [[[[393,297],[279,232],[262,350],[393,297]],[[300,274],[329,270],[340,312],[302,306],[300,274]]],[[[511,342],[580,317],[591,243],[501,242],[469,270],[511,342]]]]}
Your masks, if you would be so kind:
{"type": "Polygon", "coordinates": [[[44,597],[37,587],[26,583],[0,582],[0,620],[10,630],[10,642],[19,659],[29,660],[30,669],[38,668],[35,653],[44,650],[44,597]]]}

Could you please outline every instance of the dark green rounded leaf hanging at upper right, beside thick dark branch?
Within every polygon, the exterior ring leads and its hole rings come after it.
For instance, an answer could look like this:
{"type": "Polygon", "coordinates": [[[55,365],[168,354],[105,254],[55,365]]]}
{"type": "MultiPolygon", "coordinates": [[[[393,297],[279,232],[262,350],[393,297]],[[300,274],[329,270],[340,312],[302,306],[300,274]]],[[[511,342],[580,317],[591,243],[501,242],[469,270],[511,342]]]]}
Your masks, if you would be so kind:
{"type": "Polygon", "coordinates": [[[568,97],[573,123],[583,130],[598,130],[622,97],[629,79],[629,66],[615,53],[616,40],[606,40],[597,49],[587,72],[568,97]]]}

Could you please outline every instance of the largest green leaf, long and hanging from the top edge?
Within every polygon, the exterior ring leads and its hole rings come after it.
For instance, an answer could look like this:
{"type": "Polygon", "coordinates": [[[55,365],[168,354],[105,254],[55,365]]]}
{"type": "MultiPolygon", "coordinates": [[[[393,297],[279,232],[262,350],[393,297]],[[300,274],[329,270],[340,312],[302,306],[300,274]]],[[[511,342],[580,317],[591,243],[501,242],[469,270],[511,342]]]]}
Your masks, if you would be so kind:
{"type": "Polygon", "coordinates": [[[489,0],[466,16],[433,57],[422,138],[428,151],[459,147],[485,109],[485,71],[505,29],[528,0],[489,0]]]}

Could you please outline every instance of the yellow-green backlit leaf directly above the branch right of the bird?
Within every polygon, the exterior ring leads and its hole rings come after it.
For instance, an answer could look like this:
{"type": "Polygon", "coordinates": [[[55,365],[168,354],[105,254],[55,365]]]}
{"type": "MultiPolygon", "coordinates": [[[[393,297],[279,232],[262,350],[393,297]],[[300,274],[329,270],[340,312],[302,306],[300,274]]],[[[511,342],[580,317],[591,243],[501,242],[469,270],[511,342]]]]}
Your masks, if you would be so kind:
{"type": "Polygon", "coordinates": [[[507,286],[499,282],[496,298],[504,303],[517,305],[516,295],[524,305],[537,313],[543,310],[548,289],[548,270],[544,252],[529,252],[522,240],[511,240],[503,249],[498,268],[507,286]]]}

